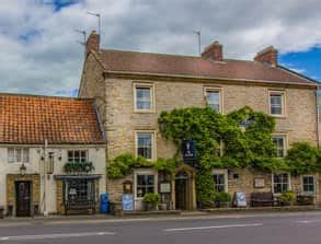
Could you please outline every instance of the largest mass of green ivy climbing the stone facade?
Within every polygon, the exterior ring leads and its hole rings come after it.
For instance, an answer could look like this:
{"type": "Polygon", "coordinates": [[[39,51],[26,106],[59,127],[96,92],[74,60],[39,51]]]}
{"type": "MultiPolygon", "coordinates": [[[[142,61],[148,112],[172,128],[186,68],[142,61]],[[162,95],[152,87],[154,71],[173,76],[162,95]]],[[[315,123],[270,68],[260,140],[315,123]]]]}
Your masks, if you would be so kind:
{"type": "Polygon", "coordinates": [[[203,206],[213,205],[214,182],[210,170],[256,167],[261,170],[284,167],[284,163],[272,160],[275,146],[271,133],[275,127],[273,117],[243,107],[228,115],[222,115],[210,107],[182,108],[163,112],[159,117],[160,132],[177,146],[177,153],[183,139],[193,138],[196,158],[199,164],[197,175],[197,200],[203,206]],[[240,124],[249,123],[245,131],[240,124]],[[223,155],[220,155],[220,143],[223,155]]]}

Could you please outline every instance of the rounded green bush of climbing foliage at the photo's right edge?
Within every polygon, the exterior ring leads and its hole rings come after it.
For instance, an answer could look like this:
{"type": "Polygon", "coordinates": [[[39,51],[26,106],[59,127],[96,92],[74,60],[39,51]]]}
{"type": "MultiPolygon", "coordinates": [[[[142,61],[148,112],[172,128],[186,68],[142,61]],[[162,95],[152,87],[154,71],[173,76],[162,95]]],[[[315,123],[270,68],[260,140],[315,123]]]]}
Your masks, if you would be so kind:
{"type": "Polygon", "coordinates": [[[290,172],[308,174],[321,171],[321,152],[309,142],[296,142],[288,150],[286,162],[290,172]]]}

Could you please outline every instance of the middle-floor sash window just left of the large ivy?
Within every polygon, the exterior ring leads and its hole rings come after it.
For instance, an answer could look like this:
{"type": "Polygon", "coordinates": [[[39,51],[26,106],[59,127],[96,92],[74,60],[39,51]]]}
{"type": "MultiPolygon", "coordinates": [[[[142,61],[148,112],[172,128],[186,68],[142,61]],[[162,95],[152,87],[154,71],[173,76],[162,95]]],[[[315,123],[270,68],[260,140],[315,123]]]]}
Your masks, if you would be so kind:
{"type": "Polygon", "coordinates": [[[153,159],[153,132],[137,132],[136,154],[148,160],[153,159]]]}

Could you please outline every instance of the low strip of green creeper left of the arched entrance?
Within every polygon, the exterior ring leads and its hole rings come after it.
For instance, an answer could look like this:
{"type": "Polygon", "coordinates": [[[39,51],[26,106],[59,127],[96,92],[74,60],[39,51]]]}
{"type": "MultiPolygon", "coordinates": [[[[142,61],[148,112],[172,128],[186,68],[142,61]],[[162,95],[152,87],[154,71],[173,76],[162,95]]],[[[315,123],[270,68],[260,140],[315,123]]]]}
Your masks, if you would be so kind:
{"type": "Polygon", "coordinates": [[[174,159],[158,159],[149,161],[142,156],[129,153],[121,154],[107,163],[107,175],[110,178],[123,178],[138,167],[154,167],[157,171],[173,172],[179,166],[174,159]]]}

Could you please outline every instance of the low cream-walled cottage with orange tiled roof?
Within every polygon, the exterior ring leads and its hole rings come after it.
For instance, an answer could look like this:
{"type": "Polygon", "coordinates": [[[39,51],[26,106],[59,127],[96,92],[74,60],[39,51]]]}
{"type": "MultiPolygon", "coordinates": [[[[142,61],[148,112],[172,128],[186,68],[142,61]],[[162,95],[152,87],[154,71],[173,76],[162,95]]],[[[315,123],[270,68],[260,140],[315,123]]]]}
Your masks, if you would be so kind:
{"type": "Polygon", "coordinates": [[[106,184],[104,132],[94,101],[0,94],[0,107],[5,213],[94,211],[106,184]]]}

